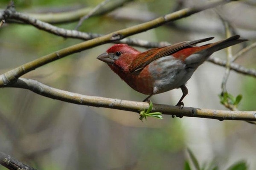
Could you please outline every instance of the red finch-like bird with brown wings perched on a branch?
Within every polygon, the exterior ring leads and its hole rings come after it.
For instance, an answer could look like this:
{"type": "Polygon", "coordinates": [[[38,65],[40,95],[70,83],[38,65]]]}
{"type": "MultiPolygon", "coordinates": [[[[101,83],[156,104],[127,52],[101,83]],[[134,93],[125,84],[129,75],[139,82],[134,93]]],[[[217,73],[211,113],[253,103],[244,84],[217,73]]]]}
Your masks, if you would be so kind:
{"type": "Polygon", "coordinates": [[[107,63],[135,91],[149,95],[143,102],[149,101],[154,94],[180,88],[182,96],[176,106],[183,108],[182,101],[188,94],[186,82],[198,66],[215,51],[247,41],[234,35],[218,42],[195,46],[213,38],[178,42],[144,52],[127,44],[115,44],[97,59],[107,63]]]}

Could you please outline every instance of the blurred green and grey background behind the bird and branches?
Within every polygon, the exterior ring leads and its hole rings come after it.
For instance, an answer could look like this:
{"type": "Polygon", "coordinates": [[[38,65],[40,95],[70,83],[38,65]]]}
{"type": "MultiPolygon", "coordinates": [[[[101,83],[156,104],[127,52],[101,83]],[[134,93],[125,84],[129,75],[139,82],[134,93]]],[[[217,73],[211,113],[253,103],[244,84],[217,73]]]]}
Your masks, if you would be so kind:
{"type": "MultiPolygon", "coordinates": [[[[79,31],[108,34],[152,20],[207,0],[133,0],[116,10],[84,21],[79,31]]],[[[15,0],[16,10],[48,13],[93,8],[101,0],[15,0]]],[[[114,1],[113,1],[114,2],[114,1]]],[[[0,1],[0,9],[8,0],[0,1]]],[[[243,0],[209,9],[190,17],[131,36],[150,42],[180,42],[215,37],[225,39],[221,15],[236,34],[256,41],[256,2],[243,0]]],[[[78,21],[55,24],[74,29],[78,21]]],[[[62,38],[33,26],[6,23],[0,28],[0,73],[61,48],[82,42],[62,38]]],[[[101,45],[42,66],[23,77],[84,95],[142,101],[108,66],[97,60],[112,44],[101,45]]],[[[233,54],[243,48],[236,45],[233,54]]],[[[145,51],[145,48],[137,48],[145,51]]],[[[256,49],[236,63],[256,69],[256,49]]],[[[226,51],[214,57],[225,59],[226,51]]],[[[226,110],[220,104],[225,68],[206,62],[188,81],[187,107],[226,110]]],[[[256,78],[231,71],[227,91],[241,94],[241,111],[256,110],[256,78]]],[[[175,105],[180,89],[155,95],[155,103],[175,105]]],[[[46,170],[182,170],[192,150],[199,164],[214,164],[220,170],[237,161],[256,169],[256,125],[243,121],[218,121],[183,117],[148,118],[141,122],[136,113],[74,105],[17,88],[0,88],[0,151],[34,168],[46,170]]],[[[0,166],[0,170],[5,170],[0,166]]]]}

